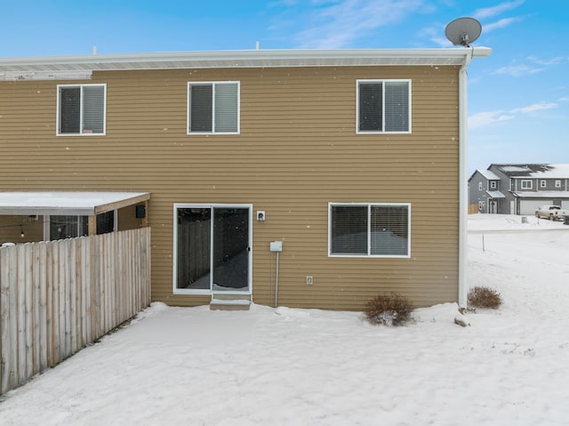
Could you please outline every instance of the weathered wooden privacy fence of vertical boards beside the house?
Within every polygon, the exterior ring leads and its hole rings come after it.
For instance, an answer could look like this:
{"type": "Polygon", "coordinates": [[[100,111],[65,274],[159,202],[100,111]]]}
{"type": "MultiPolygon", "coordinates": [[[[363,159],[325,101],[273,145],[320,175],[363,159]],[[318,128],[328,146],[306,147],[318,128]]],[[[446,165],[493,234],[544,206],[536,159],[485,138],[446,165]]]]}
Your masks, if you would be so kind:
{"type": "Polygon", "coordinates": [[[0,394],[150,302],[150,229],[0,248],[0,394]]]}

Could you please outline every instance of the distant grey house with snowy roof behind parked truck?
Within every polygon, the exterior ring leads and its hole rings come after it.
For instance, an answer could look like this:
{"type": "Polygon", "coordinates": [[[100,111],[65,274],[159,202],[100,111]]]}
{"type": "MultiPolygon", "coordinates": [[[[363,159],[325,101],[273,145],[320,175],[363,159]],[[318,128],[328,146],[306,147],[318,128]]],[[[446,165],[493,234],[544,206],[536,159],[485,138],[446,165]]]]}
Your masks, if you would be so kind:
{"type": "Polygon", "coordinates": [[[490,165],[469,179],[480,213],[534,214],[541,205],[569,209],[569,165],[490,165]]]}

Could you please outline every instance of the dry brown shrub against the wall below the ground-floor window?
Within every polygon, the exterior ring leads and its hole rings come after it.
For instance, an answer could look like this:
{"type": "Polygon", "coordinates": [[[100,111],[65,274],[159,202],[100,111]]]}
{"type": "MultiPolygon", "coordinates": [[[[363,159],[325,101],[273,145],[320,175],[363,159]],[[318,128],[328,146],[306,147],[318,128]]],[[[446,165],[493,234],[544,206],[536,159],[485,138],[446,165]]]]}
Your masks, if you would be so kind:
{"type": "Polygon", "coordinates": [[[413,305],[396,294],[379,294],[365,305],[364,314],[372,324],[403,326],[411,319],[413,305]]]}

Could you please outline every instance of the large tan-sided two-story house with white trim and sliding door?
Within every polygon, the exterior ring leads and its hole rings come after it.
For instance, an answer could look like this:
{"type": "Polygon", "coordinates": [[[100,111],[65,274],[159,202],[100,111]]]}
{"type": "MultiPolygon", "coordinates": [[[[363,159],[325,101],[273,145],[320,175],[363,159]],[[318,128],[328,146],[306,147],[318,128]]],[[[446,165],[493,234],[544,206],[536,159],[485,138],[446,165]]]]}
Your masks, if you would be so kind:
{"type": "Polygon", "coordinates": [[[148,221],[152,299],[171,305],[464,304],[466,68],[490,52],[0,59],[0,191],[116,195],[0,208],[0,238],[148,221]]]}

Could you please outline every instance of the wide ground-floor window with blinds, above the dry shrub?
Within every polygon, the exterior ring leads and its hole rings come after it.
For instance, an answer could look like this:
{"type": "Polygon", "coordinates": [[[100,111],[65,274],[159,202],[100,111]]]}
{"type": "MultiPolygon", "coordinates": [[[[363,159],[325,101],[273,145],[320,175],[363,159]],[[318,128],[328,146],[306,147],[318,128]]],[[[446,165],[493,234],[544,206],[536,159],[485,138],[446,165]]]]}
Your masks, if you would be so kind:
{"type": "Polygon", "coordinates": [[[331,256],[409,257],[410,204],[330,204],[331,256]]]}

